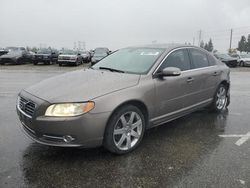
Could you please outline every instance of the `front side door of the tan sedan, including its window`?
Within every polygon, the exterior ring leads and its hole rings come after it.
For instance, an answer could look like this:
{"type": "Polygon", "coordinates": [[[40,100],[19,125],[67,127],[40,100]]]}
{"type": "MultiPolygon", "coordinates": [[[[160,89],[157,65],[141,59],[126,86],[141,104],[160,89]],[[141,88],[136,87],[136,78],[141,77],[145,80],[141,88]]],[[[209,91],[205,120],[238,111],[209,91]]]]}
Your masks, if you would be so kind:
{"type": "MultiPolygon", "coordinates": [[[[171,52],[157,72],[166,67],[177,67],[181,71],[187,71],[191,68],[190,58],[187,49],[178,49],[171,52]]],[[[187,98],[187,91],[193,84],[193,78],[189,74],[181,73],[180,76],[155,78],[156,90],[156,114],[154,122],[161,122],[171,119],[178,113],[181,113],[187,98]]]]}

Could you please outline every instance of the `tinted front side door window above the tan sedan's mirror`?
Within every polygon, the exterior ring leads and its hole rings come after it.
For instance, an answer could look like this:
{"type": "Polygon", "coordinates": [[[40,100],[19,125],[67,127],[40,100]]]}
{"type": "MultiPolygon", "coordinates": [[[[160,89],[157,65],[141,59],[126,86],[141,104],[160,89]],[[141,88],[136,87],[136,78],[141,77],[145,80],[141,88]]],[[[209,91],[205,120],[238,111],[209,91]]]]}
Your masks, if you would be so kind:
{"type": "Polygon", "coordinates": [[[172,52],[162,63],[159,70],[163,70],[166,67],[177,67],[182,71],[189,70],[190,61],[188,51],[186,49],[183,49],[172,52]]]}

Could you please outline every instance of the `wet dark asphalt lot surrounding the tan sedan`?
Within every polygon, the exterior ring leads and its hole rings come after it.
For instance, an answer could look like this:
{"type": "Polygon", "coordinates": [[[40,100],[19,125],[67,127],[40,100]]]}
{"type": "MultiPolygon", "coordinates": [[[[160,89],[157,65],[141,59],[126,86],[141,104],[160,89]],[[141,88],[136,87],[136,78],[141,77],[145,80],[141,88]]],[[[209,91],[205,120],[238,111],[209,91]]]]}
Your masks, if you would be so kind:
{"type": "MultiPolygon", "coordinates": [[[[150,129],[134,152],[56,148],[20,130],[18,92],[80,67],[0,66],[0,187],[250,187],[250,67],[231,72],[231,104],[150,129]]],[[[83,80],[84,82],[84,80],[83,80]]]]}

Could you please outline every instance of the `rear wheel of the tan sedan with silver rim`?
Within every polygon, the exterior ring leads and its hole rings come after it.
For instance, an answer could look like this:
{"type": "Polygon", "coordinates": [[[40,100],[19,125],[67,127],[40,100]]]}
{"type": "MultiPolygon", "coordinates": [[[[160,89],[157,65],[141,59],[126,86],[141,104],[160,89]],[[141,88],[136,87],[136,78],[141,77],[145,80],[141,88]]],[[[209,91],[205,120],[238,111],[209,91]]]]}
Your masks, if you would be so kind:
{"type": "Polygon", "coordinates": [[[215,92],[214,99],[211,104],[212,111],[220,113],[229,105],[227,92],[228,87],[225,84],[220,84],[215,92]]]}

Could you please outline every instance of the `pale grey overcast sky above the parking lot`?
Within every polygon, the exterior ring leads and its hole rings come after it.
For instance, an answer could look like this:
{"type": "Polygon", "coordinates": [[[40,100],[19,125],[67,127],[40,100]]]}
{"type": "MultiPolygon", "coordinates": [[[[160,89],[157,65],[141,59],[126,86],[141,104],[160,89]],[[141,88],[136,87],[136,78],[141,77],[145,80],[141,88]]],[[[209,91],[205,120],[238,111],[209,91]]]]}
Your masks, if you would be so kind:
{"type": "Polygon", "coordinates": [[[114,50],[138,44],[195,43],[212,37],[229,47],[250,33],[249,0],[0,0],[0,47],[37,46],[114,50]]]}

